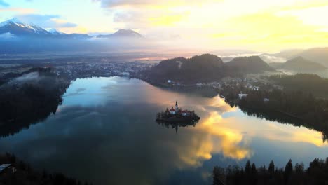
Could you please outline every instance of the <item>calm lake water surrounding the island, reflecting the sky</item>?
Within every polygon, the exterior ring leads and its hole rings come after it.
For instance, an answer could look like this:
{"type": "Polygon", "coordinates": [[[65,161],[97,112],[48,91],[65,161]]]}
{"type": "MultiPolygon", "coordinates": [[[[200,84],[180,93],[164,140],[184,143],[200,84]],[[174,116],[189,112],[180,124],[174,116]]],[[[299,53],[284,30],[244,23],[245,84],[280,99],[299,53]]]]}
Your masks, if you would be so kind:
{"type": "Polygon", "coordinates": [[[320,132],[247,116],[204,94],[121,77],[77,79],[56,114],[0,138],[0,152],[95,184],[211,184],[214,165],[283,167],[291,158],[307,166],[328,156],[320,132]],[[176,100],[201,117],[196,125],[156,123],[176,100]]]}

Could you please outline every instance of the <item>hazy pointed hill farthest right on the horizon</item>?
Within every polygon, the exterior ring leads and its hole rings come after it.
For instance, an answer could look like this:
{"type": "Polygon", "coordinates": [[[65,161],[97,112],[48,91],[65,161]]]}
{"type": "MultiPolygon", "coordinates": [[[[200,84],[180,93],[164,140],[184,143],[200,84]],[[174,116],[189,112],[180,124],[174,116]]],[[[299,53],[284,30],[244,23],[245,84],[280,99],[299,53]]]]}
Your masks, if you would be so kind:
{"type": "Polygon", "coordinates": [[[303,57],[295,57],[282,64],[276,64],[276,69],[292,70],[297,72],[322,71],[326,69],[322,64],[306,60],[303,57]]]}

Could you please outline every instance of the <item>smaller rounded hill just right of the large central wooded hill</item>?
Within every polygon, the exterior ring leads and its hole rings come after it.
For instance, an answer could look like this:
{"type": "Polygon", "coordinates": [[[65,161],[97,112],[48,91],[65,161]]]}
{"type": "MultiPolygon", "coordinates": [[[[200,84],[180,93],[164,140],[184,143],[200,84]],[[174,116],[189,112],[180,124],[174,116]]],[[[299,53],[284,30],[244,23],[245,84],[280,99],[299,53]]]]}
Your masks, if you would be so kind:
{"type": "Polygon", "coordinates": [[[261,73],[263,71],[275,71],[259,56],[235,57],[230,62],[225,63],[228,71],[235,71],[236,74],[261,73]]]}

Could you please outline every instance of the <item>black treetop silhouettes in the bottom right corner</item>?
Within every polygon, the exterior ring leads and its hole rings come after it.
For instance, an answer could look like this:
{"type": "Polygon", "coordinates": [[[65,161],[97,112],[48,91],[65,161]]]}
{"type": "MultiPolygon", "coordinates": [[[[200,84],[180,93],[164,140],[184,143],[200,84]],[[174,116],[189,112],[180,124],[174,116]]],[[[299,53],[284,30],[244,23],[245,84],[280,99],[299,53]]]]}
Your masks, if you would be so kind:
{"type": "Polygon", "coordinates": [[[229,166],[225,170],[215,167],[216,170],[213,170],[213,181],[214,178],[218,177],[226,185],[312,185],[327,184],[328,181],[328,158],[326,160],[313,160],[307,170],[304,170],[303,163],[296,164],[293,169],[292,160],[289,160],[283,169],[276,168],[273,170],[275,168],[273,161],[270,162],[268,169],[266,167],[256,168],[255,164],[250,165],[250,161],[247,161],[246,166],[250,173],[238,166],[229,166]]]}

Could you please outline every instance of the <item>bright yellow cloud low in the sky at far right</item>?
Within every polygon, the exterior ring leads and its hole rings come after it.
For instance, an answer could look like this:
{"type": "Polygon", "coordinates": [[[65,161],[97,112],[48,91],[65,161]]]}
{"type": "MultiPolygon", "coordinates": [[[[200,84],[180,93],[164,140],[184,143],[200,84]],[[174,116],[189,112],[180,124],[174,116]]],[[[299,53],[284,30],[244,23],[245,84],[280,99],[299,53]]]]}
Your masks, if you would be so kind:
{"type": "Polygon", "coordinates": [[[228,20],[231,33],[241,36],[242,43],[266,43],[283,46],[290,43],[327,43],[324,33],[316,33],[320,27],[306,25],[293,15],[254,13],[228,20]]]}

